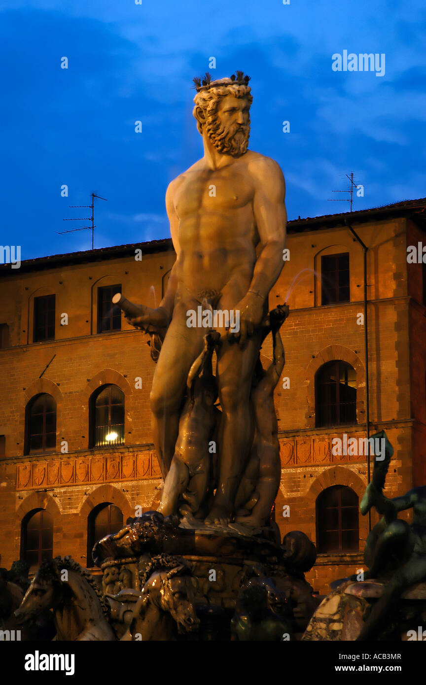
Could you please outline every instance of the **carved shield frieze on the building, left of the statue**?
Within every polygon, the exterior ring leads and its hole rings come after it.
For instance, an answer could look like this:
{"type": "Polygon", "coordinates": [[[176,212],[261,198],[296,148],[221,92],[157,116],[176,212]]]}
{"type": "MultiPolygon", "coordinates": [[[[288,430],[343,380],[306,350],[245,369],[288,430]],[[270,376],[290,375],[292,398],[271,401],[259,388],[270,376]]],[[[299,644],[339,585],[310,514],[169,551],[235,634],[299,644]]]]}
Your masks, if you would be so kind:
{"type": "Polygon", "coordinates": [[[63,488],[67,485],[110,483],[120,480],[160,478],[155,452],[18,464],[16,489],[63,488]]]}

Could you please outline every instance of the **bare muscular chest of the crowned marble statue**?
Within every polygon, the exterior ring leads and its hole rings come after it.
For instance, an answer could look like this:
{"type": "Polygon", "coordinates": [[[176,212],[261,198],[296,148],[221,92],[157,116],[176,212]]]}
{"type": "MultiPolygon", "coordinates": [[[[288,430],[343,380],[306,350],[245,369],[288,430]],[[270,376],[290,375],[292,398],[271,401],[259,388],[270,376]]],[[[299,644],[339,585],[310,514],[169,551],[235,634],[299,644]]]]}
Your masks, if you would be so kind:
{"type": "Polygon", "coordinates": [[[253,199],[253,188],[247,174],[233,166],[216,171],[188,173],[175,195],[179,219],[202,210],[232,210],[245,207],[253,199]]]}

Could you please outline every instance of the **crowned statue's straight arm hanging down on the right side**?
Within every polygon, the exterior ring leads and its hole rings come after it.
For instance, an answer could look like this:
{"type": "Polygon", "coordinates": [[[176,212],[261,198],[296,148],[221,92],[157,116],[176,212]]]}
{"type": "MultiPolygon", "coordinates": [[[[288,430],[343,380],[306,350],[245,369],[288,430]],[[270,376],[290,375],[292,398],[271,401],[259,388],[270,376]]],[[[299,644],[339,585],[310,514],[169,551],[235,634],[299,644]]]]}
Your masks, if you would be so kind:
{"type": "Polygon", "coordinates": [[[249,164],[254,184],[253,212],[262,249],[256,260],[247,295],[238,305],[240,310],[240,345],[262,323],[264,303],[283,266],[286,247],[287,213],[284,203],[286,184],[277,162],[268,157],[249,164]]]}

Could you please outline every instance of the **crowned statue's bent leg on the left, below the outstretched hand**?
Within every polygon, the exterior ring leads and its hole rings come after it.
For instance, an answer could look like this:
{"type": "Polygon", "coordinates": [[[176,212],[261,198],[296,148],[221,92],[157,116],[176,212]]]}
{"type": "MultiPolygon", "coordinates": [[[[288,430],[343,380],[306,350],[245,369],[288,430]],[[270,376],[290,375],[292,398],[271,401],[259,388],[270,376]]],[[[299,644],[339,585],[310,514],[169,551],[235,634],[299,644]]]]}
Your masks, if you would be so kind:
{"type": "Polygon", "coordinates": [[[187,310],[197,310],[198,304],[194,300],[175,306],[153,377],[150,395],[153,438],[164,479],[175,452],[188,372],[203,349],[205,328],[186,325],[187,310]]]}

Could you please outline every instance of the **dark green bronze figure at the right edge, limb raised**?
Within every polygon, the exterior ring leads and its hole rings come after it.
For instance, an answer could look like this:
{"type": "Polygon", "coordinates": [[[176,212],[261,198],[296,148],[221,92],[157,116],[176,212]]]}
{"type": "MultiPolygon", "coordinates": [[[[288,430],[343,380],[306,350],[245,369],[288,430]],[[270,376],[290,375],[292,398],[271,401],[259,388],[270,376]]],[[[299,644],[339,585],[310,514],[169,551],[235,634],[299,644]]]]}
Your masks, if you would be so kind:
{"type": "MultiPolygon", "coordinates": [[[[384,431],[377,434],[386,438],[384,431]]],[[[374,640],[389,620],[404,590],[426,580],[426,486],[413,488],[401,497],[388,499],[383,488],[392,445],[386,438],[384,460],[374,460],[373,477],[362,498],[360,510],[366,514],[374,506],[382,518],[366,540],[364,559],[369,566],[365,578],[384,580],[383,595],[375,603],[358,640],[374,640]],[[412,524],[398,519],[398,512],[413,510],[412,524]]]]}

